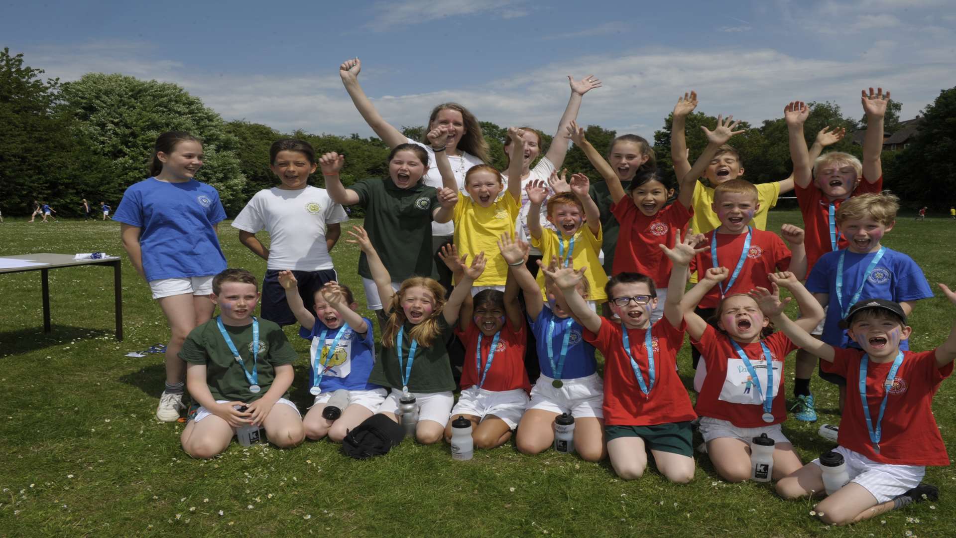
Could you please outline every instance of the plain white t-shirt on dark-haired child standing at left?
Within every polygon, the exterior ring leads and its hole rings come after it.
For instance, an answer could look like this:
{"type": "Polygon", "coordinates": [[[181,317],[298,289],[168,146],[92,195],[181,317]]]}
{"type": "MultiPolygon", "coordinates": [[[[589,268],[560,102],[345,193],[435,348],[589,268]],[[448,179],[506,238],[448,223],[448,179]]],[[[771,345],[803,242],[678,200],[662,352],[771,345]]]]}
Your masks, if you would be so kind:
{"type": "Polygon", "coordinates": [[[326,226],[348,219],[325,189],[311,185],[298,191],[273,187],[256,192],[232,221],[232,227],[250,234],[263,229],[269,233],[267,268],[319,271],[333,268],[325,246],[326,226]]]}

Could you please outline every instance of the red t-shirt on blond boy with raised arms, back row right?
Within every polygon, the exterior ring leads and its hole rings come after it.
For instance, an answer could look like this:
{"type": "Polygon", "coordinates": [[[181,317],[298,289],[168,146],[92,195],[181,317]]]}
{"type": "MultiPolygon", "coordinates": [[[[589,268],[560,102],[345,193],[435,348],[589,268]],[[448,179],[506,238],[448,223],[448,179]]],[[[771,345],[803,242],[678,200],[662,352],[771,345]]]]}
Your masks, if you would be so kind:
{"type": "MultiPolygon", "coordinates": [[[[857,188],[850,193],[850,196],[882,190],[882,176],[876,183],[870,183],[864,177],[860,180],[857,188]]],[[[820,188],[813,182],[806,189],[797,185],[793,187],[793,192],[796,193],[796,202],[800,205],[800,213],[803,215],[803,231],[806,233],[803,244],[807,248],[807,274],[809,275],[816,260],[833,250],[830,248],[830,200],[823,195],[823,191],[820,191],[820,188]]],[[[843,200],[834,200],[835,212],[842,203],[843,200]]],[[[837,248],[846,248],[849,242],[845,237],[839,235],[839,230],[836,231],[836,234],[837,248]]]]}

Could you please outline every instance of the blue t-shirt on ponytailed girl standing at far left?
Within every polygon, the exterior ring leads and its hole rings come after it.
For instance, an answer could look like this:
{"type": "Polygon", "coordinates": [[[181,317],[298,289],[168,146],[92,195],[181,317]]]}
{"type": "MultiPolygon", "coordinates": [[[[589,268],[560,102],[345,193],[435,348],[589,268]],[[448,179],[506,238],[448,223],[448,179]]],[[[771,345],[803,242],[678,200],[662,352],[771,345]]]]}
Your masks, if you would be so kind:
{"type": "Polygon", "coordinates": [[[226,269],[213,225],[226,218],[214,188],[155,177],[127,189],[113,220],[141,228],[146,280],[206,277],[226,269]]]}

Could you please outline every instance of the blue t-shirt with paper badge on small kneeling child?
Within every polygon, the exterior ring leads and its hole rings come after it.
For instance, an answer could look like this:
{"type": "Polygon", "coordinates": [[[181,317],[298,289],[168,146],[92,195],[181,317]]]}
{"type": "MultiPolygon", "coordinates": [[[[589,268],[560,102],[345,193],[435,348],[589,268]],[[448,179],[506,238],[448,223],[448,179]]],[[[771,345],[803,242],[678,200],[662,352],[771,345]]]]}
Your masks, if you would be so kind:
{"type": "MultiPolygon", "coordinates": [[[[365,332],[365,335],[362,336],[351,328],[346,329],[342,337],[338,339],[336,351],[332,355],[332,358],[327,363],[323,362],[323,364],[326,364],[326,367],[331,368],[325,370],[325,374],[322,375],[322,380],[318,383],[322,392],[332,392],[338,389],[345,389],[347,391],[374,391],[375,389],[381,389],[380,385],[368,382],[368,375],[372,372],[372,365],[375,364],[375,336],[372,334],[372,320],[367,318],[362,319],[365,320],[365,325],[368,325],[368,331],[365,332]]],[[[315,325],[312,326],[312,330],[300,326],[299,336],[306,340],[317,339],[321,336],[322,331],[327,328],[328,327],[322,324],[322,322],[315,320],[315,325]]],[[[328,329],[322,347],[332,346],[332,341],[336,339],[337,332],[337,328],[328,329]]],[[[321,357],[321,351],[317,346],[315,347],[315,354],[321,357]]],[[[309,387],[312,387],[313,384],[314,368],[315,362],[313,362],[310,356],[309,387]]]]}

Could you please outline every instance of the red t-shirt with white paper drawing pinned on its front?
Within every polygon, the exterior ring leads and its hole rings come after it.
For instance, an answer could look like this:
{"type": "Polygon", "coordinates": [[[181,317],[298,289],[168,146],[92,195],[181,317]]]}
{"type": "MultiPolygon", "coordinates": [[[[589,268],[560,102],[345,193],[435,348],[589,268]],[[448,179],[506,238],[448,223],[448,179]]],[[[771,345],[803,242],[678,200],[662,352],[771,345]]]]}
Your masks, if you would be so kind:
{"type": "MultiPolygon", "coordinates": [[[[697,396],[695,410],[698,415],[728,420],[738,428],[762,428],[787,419],[787,397],[780,394],[783,392],[783,363],[796,346],[786,334],[775,332],[763,340],[771,350],[773,362],[772,422],[764,422],[763,393],[756,391],[756,386],[750,380],[750,372],[730,344],[728,335],[707,325],[700,342],[691,338],[690,343],[701,352],[707,367],[704,386],[697,396]]],[[[760,389],[767,391],[767,360],[763,347],[758,342],[738,342],[738,345],[747,353],[760,381],[760,389]]]]}

